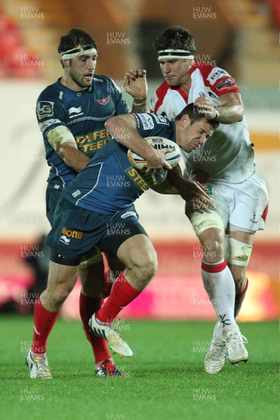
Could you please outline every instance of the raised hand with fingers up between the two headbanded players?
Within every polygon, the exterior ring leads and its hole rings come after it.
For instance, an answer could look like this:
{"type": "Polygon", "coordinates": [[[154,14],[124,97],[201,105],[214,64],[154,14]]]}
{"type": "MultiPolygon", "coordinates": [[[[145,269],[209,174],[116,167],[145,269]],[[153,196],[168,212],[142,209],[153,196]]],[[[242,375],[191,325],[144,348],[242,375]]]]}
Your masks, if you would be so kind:
{"type": "Polygon", "coordinates": [[[145,99],[148,94],[148,85],[146,80],[146,70],[131,69],[125,73],[123,81],[125,92],[136,99],[145,99]]]}

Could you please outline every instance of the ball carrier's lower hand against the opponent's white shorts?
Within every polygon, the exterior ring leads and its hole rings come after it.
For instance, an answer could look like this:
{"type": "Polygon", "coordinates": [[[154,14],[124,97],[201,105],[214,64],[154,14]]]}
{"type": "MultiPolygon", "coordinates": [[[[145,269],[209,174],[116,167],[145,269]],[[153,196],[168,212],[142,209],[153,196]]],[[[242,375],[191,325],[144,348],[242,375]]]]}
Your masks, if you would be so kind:
{"type": "Polygon", "coordinates": [[[197,181],[190,181],[190,179],[185,179],[185,188],[180,188],[180,195],[183,200],[192,204],[194,210],[207,209],[211,200],[207,193],[207,188],[202,186],[197,181]]]}

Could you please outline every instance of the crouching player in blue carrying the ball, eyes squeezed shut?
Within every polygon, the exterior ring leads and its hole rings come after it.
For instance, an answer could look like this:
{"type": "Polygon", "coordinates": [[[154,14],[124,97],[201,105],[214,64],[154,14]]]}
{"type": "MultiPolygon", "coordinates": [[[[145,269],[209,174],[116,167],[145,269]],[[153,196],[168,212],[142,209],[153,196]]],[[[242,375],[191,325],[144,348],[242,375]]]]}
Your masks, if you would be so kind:
{"type": "MultiPolygon", "coordinates": [[[[41,295],[45,328],[43,336],[36,337],[36,345],[43,347],[44,353],[28,358],[33,379],[52,378],[45,354],[46,341],[62,303],[76,283],[80,261],[93,246],[118,258],[125,269],[114,282],[106,302],[91,316],[90,331],[93,336],[104,337],[120,356],[132,356],[130,346],[112,327],[113,319],[144,290],[157,269],[155,249],[139,224],[133,203],[148,188],[157,190],[162,182],[166,184],[165,193],[178,193],[165,179],[171,167],[164,153],[156,151],[144,137],[167,137],[190,152],[204,143],[218,123],[207,120],[189,104],[175,121],[151,113],[132,113],[110,118],[105,126],[115,133],[116,139],[100,149],[64,188],[46,239],[52,253],[48,286],[41,295]],[[121,127],[125,130],[120,130],[121,127]],[[127,148],[146,159],[149,172],[141,172],[130,164],[127,148]],[[108,183],[112,175],[122,179],[115,188],[108,183]]],[[[194,181],[182,179],[182,182],[191,187],[187,197],[190,202],[209,204],[203,187],[194,181]]]]}

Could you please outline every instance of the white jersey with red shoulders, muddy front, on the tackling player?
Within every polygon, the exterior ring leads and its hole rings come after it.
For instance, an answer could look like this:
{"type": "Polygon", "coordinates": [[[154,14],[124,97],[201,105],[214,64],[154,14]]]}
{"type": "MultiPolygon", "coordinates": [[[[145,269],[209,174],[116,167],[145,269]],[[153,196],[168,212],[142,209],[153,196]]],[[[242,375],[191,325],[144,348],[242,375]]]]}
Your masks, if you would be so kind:
{"type": "MultiPolygon", "coordinates": [[[[159,113],[170,120],[198,97],[210,97],[214,106],[218,97],[231,92],[240,92],[234,78],[216,66],[195,62],[190,70],[189,94],[180,87],[170,87],[164,81],[151,98],[151,112],[159,113]]],[[[255,153],[246,127],[246,119],[239,123],[219,124],[207,141],[191,153],[183,152],[186,176],[200,169],[209,176],[208,182],[241,183],[254,172],[255,153]]]]}

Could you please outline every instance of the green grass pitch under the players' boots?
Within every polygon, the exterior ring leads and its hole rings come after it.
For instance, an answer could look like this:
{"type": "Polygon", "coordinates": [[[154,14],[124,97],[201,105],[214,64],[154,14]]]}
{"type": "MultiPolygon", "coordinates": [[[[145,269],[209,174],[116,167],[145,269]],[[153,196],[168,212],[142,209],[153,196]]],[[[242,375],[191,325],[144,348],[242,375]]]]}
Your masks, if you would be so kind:
{"type": "Polygon", "coordinates": [[[81,323],[59,319],[48,340],[54,379],[29,379],[31,316],[0,321],[0,419],[279,420],[279,323],[241,323],[249,363],[204,372],[214,323],[130,321],[132,358],[115,355],[122,378],[94,377],[81,323]]]}

